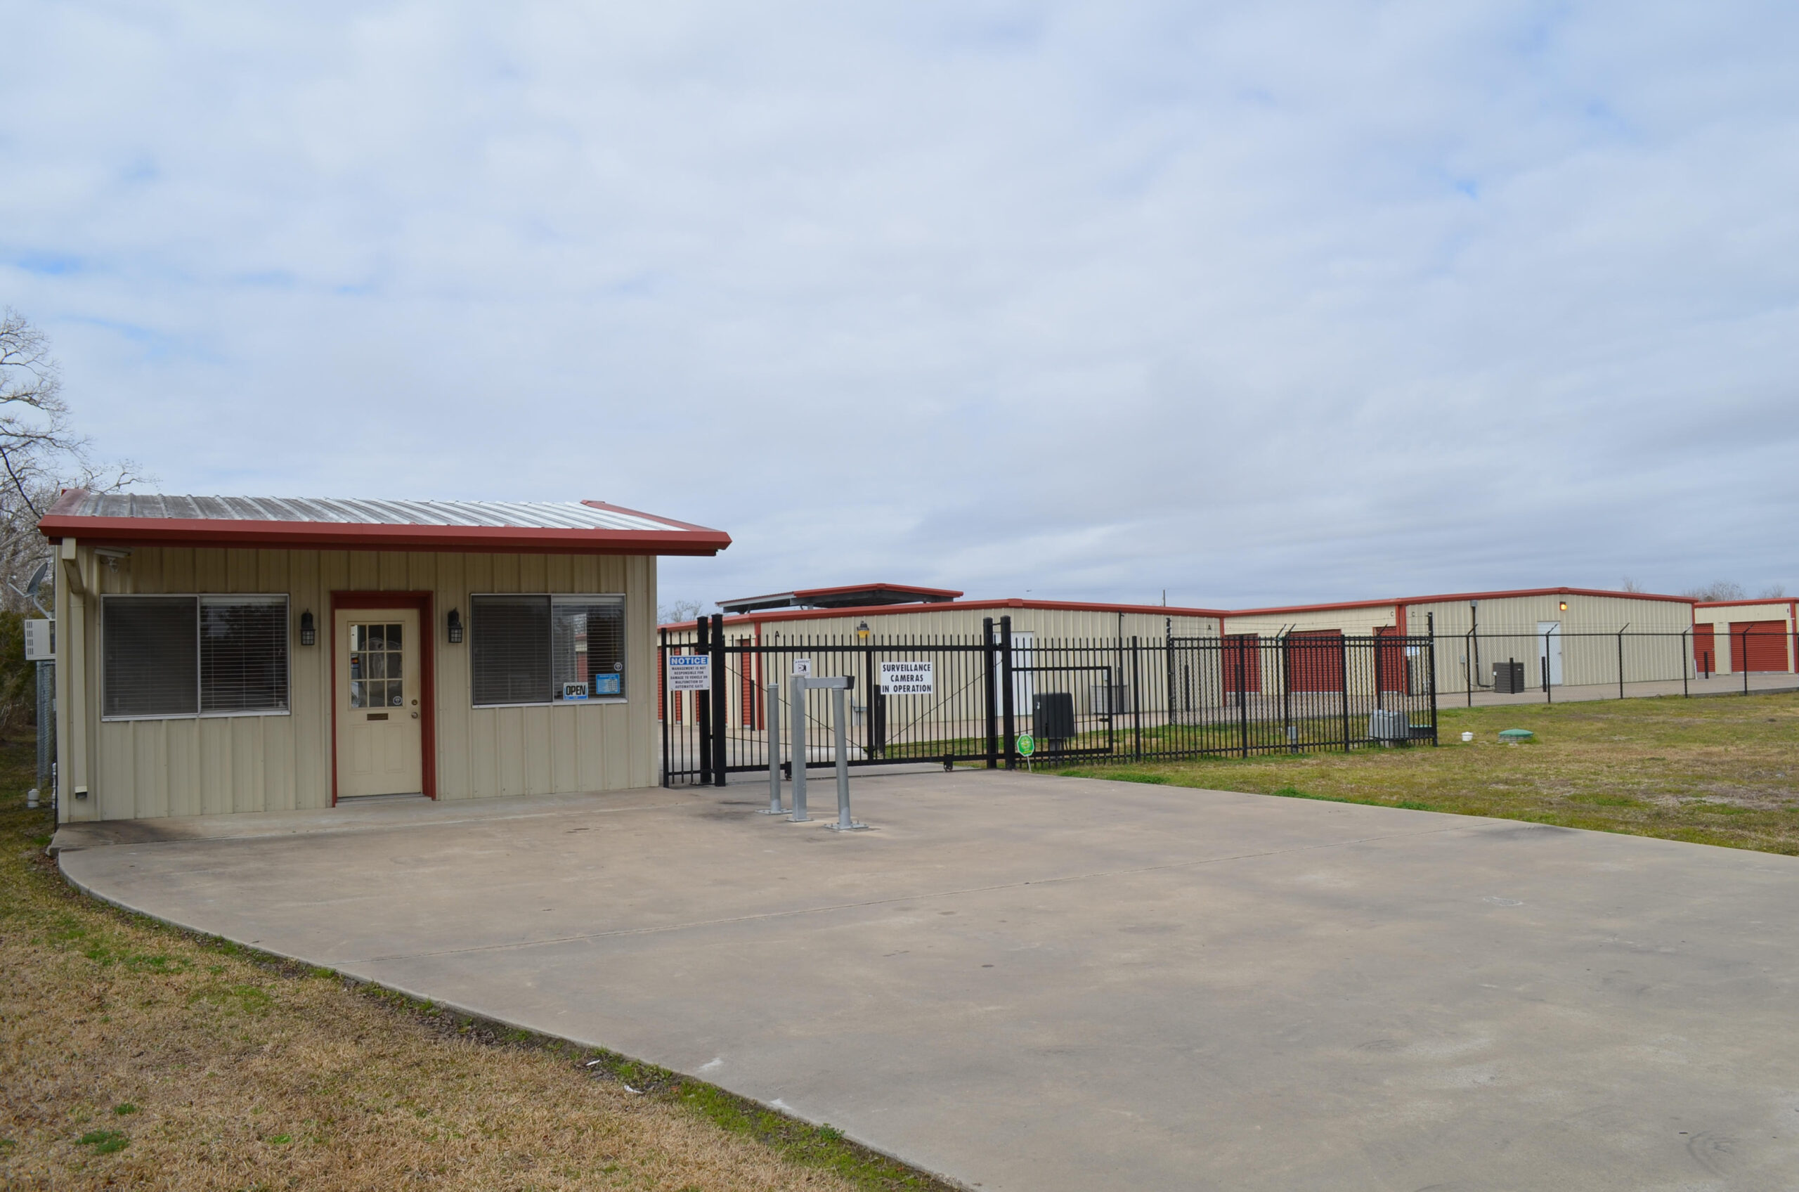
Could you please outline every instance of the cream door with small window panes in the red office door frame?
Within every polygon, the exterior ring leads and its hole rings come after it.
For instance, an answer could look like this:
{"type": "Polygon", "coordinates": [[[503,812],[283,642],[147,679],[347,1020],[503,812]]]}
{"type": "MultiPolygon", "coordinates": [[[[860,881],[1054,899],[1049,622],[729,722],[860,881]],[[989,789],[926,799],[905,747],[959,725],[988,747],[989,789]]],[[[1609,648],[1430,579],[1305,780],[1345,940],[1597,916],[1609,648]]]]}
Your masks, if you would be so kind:
{"type": "Polygon", "coordinates": [[[335,621],[338,798],[423,792],[417,610],[340,609],[335,621]]]}

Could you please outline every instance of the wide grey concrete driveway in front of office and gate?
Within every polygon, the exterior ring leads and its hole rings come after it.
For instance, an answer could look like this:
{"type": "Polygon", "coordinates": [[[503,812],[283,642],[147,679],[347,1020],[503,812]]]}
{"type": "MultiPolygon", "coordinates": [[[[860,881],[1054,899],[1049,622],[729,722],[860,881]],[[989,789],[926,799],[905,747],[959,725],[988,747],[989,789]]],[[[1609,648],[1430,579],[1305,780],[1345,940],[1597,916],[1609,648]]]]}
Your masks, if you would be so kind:
{"type": "Polygon", "coordinates": [[[157,821],[61,862],[986,1190],[1799,1188],[1799,859],[1004,772],[862,776],[862,834],[765,798],[157,821]]]}

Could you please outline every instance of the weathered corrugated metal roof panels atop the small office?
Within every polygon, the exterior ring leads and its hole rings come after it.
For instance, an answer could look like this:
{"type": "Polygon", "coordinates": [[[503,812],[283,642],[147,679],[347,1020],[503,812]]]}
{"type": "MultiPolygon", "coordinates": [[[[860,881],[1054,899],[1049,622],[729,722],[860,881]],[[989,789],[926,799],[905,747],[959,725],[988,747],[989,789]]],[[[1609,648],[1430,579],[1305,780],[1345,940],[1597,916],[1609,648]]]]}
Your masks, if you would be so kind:
{"type": "Polygon", "coordinates": [[[169,497],[85,493],[65,517],[151,517],[336,526],[493,526],[507,529],[657,529],[666,520],[576,501],[363,501],[333,497],[169,497]]]}

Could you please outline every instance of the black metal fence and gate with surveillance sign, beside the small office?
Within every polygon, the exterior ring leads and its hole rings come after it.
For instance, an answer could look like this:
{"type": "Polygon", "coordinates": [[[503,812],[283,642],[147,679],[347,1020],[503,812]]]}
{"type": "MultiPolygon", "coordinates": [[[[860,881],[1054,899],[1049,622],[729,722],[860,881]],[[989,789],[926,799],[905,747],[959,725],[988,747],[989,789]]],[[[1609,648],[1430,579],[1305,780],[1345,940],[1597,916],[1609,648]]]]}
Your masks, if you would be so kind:
{"type": "Polygon", "coordinates": [[[1250,756],[1437,742],[1436,641],[1407,636],[1015,637],[1011,618],[980,637],[732,637],[723,618],[662,632],[662,783],[716,783],[781,758],[833,763],[829,691],[806,693],[792,740],[795,666],[847,675],[849,763],[1020,765],[1250,756]],[[703,664],[673,657],[703,655],[703,664]],[[671,681],[671,670],[682,672],[671,681]],[[673,690],[685,684],[703,690],[673,690]],[[775,690],[770,691],[770,684],[775,690]]]}

